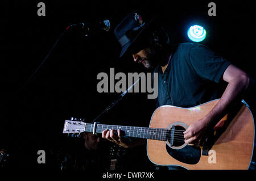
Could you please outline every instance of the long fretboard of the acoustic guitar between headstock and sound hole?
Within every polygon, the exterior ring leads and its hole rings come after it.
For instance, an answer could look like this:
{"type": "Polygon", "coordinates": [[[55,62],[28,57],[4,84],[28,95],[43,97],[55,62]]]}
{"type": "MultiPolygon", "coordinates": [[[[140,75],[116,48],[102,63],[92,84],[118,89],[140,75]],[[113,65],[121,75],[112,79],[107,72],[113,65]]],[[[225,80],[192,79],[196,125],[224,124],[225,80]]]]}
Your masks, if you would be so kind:
{"type": "MultiPolygon", "coordinates": [[[[168,129],[164,128],[144,128],[144,127],[128,127],[120,125],[97,124],[96,133],[102,133],[105,129],[121,129],[125,136],[146,138],[150,140],[167,141],[166,135],[168,129]]],[[[93,132],[93,124],[86,123],[85,132],[93,132]]]]}

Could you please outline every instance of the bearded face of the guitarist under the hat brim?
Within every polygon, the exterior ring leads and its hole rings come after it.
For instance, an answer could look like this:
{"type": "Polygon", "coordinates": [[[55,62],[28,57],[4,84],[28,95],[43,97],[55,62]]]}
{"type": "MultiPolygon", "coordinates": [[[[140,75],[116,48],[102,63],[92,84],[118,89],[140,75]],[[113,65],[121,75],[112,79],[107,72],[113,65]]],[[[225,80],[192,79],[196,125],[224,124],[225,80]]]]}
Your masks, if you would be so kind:
{"type": "Polygon", "coordinates": [[[145,48],[138,53],[133,54],[133,59],[138,64],[143,64],[146,69],[152,69],[156,66],[159,58],[158,51],[154,48],[145,48]]]}

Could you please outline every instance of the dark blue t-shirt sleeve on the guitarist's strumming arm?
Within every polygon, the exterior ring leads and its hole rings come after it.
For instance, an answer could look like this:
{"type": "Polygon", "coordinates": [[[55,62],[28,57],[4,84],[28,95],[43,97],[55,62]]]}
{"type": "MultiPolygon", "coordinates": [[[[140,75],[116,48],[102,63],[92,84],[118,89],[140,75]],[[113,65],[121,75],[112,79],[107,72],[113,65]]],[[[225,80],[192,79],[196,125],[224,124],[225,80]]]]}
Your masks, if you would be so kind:
{"type": "Polygon", "coordinates": [[[201,78],[219,82],[224,71],[231,64],[225,58],[204,45],[194,45],[188,55],[191,66],[201,78]]]}

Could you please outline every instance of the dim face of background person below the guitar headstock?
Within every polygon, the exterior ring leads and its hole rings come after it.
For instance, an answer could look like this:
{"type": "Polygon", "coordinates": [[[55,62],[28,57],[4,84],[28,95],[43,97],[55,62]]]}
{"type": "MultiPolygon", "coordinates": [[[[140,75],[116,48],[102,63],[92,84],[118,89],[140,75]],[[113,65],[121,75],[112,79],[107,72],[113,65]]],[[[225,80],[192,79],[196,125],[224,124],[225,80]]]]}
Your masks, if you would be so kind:
{"type": "Polygon", "coordinates": [[[85,147],[88,150],[96,150],[100,146],[100,137],[92,133],[84,133],[85,147]]]}

